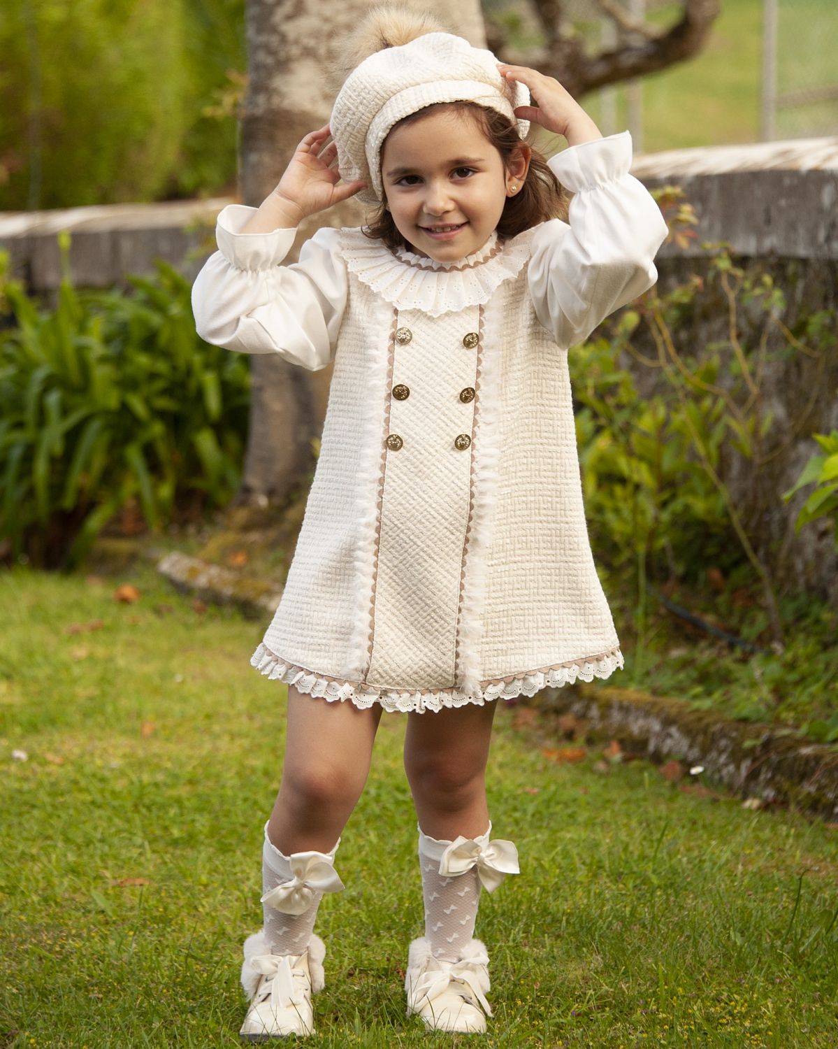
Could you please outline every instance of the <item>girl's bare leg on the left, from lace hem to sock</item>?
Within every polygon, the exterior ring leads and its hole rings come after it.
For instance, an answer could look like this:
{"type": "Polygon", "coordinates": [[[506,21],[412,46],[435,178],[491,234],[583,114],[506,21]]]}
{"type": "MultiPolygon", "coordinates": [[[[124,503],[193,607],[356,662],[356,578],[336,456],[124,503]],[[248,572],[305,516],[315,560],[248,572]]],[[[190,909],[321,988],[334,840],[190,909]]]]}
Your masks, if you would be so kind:
{"type": "Polygon", "coordinates": [[[382,708],[329,703],[288,685],[282,780],[267,826],[286,856],[328,852],[364,789],[382,708]]]}

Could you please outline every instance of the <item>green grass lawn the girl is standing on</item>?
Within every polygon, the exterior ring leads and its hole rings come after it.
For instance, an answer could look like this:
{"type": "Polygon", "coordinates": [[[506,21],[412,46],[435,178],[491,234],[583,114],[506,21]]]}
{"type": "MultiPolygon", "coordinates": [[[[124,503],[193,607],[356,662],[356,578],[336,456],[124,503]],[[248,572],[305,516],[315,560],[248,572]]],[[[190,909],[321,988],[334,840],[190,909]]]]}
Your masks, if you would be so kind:
{"type": "MultiPolygon", "coordinates": [[[[195,611],[145,565],[5,573],[0,609],[0,1046],[238,1044],[283,742],[284,687],[248,662],[266,622],[195,611]],[[120,583],[139,599],[116,602],[120,583]]],[[[523,873],[484,895],[479,1044],[834,1047],[836,829],[643,762],[557,764],[514,714],[498,713],[490,799],[523,873]]],[[[383,719],[347,887],[321,909],[315,1045],[478,1044],[404,1015],[422,896],[403,729],[383,719]]]]}

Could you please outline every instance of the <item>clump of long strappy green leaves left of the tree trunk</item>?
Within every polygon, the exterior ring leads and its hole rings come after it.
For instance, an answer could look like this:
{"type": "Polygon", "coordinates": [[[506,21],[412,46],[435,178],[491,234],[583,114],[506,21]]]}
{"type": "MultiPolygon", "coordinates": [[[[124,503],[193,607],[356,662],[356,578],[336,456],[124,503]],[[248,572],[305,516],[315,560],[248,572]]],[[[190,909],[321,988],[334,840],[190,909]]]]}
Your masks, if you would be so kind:
{"type": "Polygon", "coordinates": [[[152,528],[178,500],[220,506],[246,434],[245,359],[195,333],[190,283],[166,262],[135,294],[78,293],[66,273],[41,311],[0,255],[0,536],[38,564],[78,565],[136,498],[152,528]]]}

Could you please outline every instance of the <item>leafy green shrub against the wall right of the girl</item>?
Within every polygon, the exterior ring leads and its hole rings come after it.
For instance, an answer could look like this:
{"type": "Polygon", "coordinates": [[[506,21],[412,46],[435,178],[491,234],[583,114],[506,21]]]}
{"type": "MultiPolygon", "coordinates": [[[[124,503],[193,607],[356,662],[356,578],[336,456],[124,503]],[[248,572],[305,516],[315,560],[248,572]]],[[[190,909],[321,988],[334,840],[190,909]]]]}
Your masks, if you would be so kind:
{"type": "MultiPolygon", "coordinates": [[[[672,223],[670,237],[685,244],[694,236],[694,216],[683,193],[664,187],[657,196],[672,223]]],[[[767,509],[761,475],[788,441],[788,427],[778,432],[760,381],[795,355],[814,359],[822,370],[835,351],[835,318],[823,311],[803,316],[792,331],[782,319],[785,296],[770,274],[746,273],[724,244],[704,247],[705,278],[693,276],[666,293],[652,288],[571,355],[590,531],[611,564],[637,564],[641,647],[647,575],[701,584],[708,570],[730,575],[743,562],[752,569],[767,628],[781,646],[781,617],[756,536],[767,509]],[[726,338],[679,348],[681,330],[693,330],[694,315],[717,312],[719,301],[726,338]],[[621,355],[660,372],[667,392],[641,395],[632,374],[620,367],[621,355]],[[734,458],[752,478],[746,506],[734,502],[723,479],[734,458]]],[[[819,485],[798,531],[838,509],[838,433],[815,438],[826,455],[787,493],[819,485]]]]}

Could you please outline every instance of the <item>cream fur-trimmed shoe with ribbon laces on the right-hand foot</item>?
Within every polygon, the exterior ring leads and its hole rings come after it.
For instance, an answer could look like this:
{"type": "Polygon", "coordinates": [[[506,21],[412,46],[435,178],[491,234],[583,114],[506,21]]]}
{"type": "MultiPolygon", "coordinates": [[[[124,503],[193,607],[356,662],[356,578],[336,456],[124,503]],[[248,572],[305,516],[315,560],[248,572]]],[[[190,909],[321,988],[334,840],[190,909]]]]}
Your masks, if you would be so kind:
{"type": "Polygon", "coordinates": [[[464,948],[458,962],[434,958],[426,937],[414,940],[405,977],[408,1016],[417,1013],[433,1031],[485,1031],[486,1018],[492,1015],[486,1000],[488,965],[489,956],[479,940],[464,948]]]}

